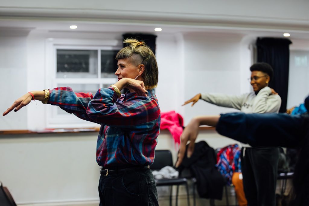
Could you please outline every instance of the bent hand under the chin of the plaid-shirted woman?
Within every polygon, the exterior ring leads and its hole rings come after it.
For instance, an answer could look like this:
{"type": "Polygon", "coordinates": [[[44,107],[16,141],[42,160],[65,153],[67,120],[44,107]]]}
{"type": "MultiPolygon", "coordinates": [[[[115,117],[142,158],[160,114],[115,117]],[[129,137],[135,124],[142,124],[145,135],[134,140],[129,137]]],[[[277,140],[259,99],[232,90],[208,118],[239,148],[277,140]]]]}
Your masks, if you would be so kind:
{"type": "Polygon", "coordinates": [[[145,89],[144,82],[131,79],[131,78],[122,78],[117,83],[114,84],[118,87],[119,90],[127,88],[129,90],[134,90],[136,95],[146,97],[148,92],[145,89]]]}

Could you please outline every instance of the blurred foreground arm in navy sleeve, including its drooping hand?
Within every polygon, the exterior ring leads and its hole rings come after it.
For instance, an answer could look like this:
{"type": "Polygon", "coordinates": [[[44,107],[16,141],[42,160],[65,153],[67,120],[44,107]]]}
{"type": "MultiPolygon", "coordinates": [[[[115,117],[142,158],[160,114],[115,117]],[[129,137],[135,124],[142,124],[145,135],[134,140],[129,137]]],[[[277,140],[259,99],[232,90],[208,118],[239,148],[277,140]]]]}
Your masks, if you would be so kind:
{"type": "Polygon", "coordinates": [[[221,116],[201,116],[193,118],[180,136],[181,146],[176,167],[184,158],[186,144],[187,156],[194,151],[198,127],[209,125],[216,127],[219,134],[252,146],[297,147],[308,135],[308,114],[245,114],[227,113],[221,116]]]}

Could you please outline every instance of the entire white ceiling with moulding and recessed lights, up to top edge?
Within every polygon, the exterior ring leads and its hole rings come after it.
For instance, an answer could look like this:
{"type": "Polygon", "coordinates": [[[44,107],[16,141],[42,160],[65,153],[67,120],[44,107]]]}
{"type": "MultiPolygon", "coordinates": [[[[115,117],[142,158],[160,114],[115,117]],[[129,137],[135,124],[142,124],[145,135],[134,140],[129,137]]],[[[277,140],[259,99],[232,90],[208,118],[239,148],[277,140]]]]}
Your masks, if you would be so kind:
{"type": "MultiPolygon", "coordinates": [[[[0,1],[0,32],[188,32],[309,39],[309,1],[0,1]],[[77,25],[72,30],[70,25],[77,25]]],[[[159,33],[157,33],[159,34],[159,33]]]]}

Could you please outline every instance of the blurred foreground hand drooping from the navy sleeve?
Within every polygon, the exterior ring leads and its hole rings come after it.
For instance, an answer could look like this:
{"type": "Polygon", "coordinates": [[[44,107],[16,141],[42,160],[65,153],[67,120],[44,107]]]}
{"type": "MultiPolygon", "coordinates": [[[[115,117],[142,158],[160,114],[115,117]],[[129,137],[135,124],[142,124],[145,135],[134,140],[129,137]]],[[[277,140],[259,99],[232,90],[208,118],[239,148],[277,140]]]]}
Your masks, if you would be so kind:
{"type": "Polygon", "coordinates": [[[200,126],[200,121],[197,118],[193,118],[190,123],[184,128],[180,136],[180,149],[178,152],[178,160],[176,162],[176,167],[180,166],[182,160],[184,159],[184,154],[186,152],[186,145],[188,145],[187,157],[190,158],[194,151],[195,140],[198,134],[198,127],[200,126]]]}

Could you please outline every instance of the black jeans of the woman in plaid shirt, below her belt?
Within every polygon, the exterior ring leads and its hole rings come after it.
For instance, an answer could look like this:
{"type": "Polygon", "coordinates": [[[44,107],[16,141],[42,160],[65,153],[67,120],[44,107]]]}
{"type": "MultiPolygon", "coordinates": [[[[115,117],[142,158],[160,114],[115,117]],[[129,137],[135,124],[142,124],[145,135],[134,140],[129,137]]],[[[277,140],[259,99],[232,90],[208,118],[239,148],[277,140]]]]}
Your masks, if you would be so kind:
{"type": "Polygon", "coordinates": [[[158,192],[150,169],[131,170],[99,180],[100,205],[157,206],[158,192]]]}

